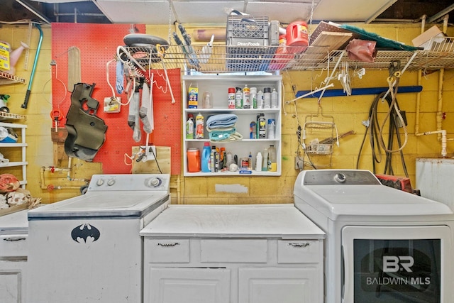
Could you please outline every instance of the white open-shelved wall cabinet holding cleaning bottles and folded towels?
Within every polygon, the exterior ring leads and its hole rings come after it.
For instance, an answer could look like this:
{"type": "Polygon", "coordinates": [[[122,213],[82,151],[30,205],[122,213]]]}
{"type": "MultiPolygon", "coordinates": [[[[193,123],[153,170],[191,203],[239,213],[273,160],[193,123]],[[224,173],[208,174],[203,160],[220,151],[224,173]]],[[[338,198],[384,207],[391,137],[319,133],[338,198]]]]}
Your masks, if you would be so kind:
{"type": "MultiPolygon", "coordinates": [[[[251,101],[252,104],[252,101],[251,101]]],[[[251,106],[253,107],[253,106],[251,106]]],[[[186,75],[183,76],[183,153],[184,153],[184,176],[232,176],[232,175],[243,175],[238,171],[236,172],[189,172],[187,150],[189,148],[197,148],[200,155],[202,155],[204,143],[210,142],[208,131],[204,128],[203,139],[188,139],[186,138],[186,121],[189,114],[195,118],[197,114],[204,116],[204,126],[206,121],[211,115],[216,114],[234,114],[238,116],[236,121],[236,132],[240,133],[242,139],[234,141],[211,141],[210,146],[215,145],[216,148],[225,148],[226,153],[230,152],[232,156],[237,155],[238,163],[240,164],[241,159],[248,159],[248,155],[251,154],[253,158],[253,168],[255,168],[255,157],[258,152],[263,153],[265,148],[269,148],[270,145],[274,145],[276,150],[277,168],[275,172],[270,171],[256,171],[252,170],[252,174],[246,176],[279,176],[281,175],[281,111],[282,111],[282,77],[274,75],[256,75],[256,76],[245,76],[245,75],[186,75]],[[228,88],[229,87],[240,87],[243,88],[247,85],[250,87],[256,87],[257,92],[261,90],[263,92],[265,87],[276,89],[278,95],[278,106],[277,108],[270,109],[229,109],[228,108],[228,88]],[[196,109],[188,108],[188,91],[189,86],[198,88],[198,106],[196,109]],[[213,107],[210,109],[202,108],[202,97],[204,92],[211,92],[211,103],[213,107]],[[266,131],[268,131],[268,120],[275,120],[275,136],[274,138],[268,138],[268,133],[265,138],[250,138],[250,123],[257,123],[257,116],[259,114],[265,115],[266,131]]],[[[240,166],[240,165],[239,165],[240,166]]]]}

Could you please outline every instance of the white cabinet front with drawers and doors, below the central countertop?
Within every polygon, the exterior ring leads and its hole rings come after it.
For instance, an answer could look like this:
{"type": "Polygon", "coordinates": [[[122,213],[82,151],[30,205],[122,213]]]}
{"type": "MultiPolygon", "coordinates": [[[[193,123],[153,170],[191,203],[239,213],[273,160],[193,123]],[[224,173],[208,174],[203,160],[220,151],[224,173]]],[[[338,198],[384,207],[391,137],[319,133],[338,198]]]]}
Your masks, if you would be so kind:
{"type": "Polygon", "coordinates": [[[145,237],[144,303],[323,302],[323,241],[281,242],[145,237]]]}

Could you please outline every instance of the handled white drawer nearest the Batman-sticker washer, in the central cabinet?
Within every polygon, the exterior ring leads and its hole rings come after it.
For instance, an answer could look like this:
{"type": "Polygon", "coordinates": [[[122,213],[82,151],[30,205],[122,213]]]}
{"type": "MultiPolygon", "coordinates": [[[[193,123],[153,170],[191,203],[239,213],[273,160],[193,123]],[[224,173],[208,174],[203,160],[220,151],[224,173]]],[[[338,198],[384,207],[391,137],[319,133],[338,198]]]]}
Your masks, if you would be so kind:
{"type": "Polygon", "coordinates": [[[148,263],[189,263],[189,239],[148,239],[145,237],[148,263]]]}

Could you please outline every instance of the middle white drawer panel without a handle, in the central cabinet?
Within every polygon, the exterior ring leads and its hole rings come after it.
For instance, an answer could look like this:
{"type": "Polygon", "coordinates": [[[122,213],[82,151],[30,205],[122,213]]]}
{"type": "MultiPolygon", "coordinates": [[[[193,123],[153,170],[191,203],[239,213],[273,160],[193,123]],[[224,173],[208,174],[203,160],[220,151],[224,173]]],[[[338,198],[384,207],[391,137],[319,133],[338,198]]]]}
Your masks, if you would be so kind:
{"type": "Polygon", "coordinates": [[[201,263],[266,263],[267,240],[201,240],[201,263]]]}

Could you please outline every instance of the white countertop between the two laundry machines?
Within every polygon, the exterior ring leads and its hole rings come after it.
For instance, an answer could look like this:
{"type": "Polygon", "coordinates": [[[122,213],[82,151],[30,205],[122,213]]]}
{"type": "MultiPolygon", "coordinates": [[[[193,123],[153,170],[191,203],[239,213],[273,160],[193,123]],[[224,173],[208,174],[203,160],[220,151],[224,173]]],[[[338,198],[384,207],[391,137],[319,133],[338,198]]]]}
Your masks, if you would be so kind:
{"type": "Polygon", "coordinates": [[[321,239],[325,233],[294,204],[170,205],[140,236],[321,239]]]}

